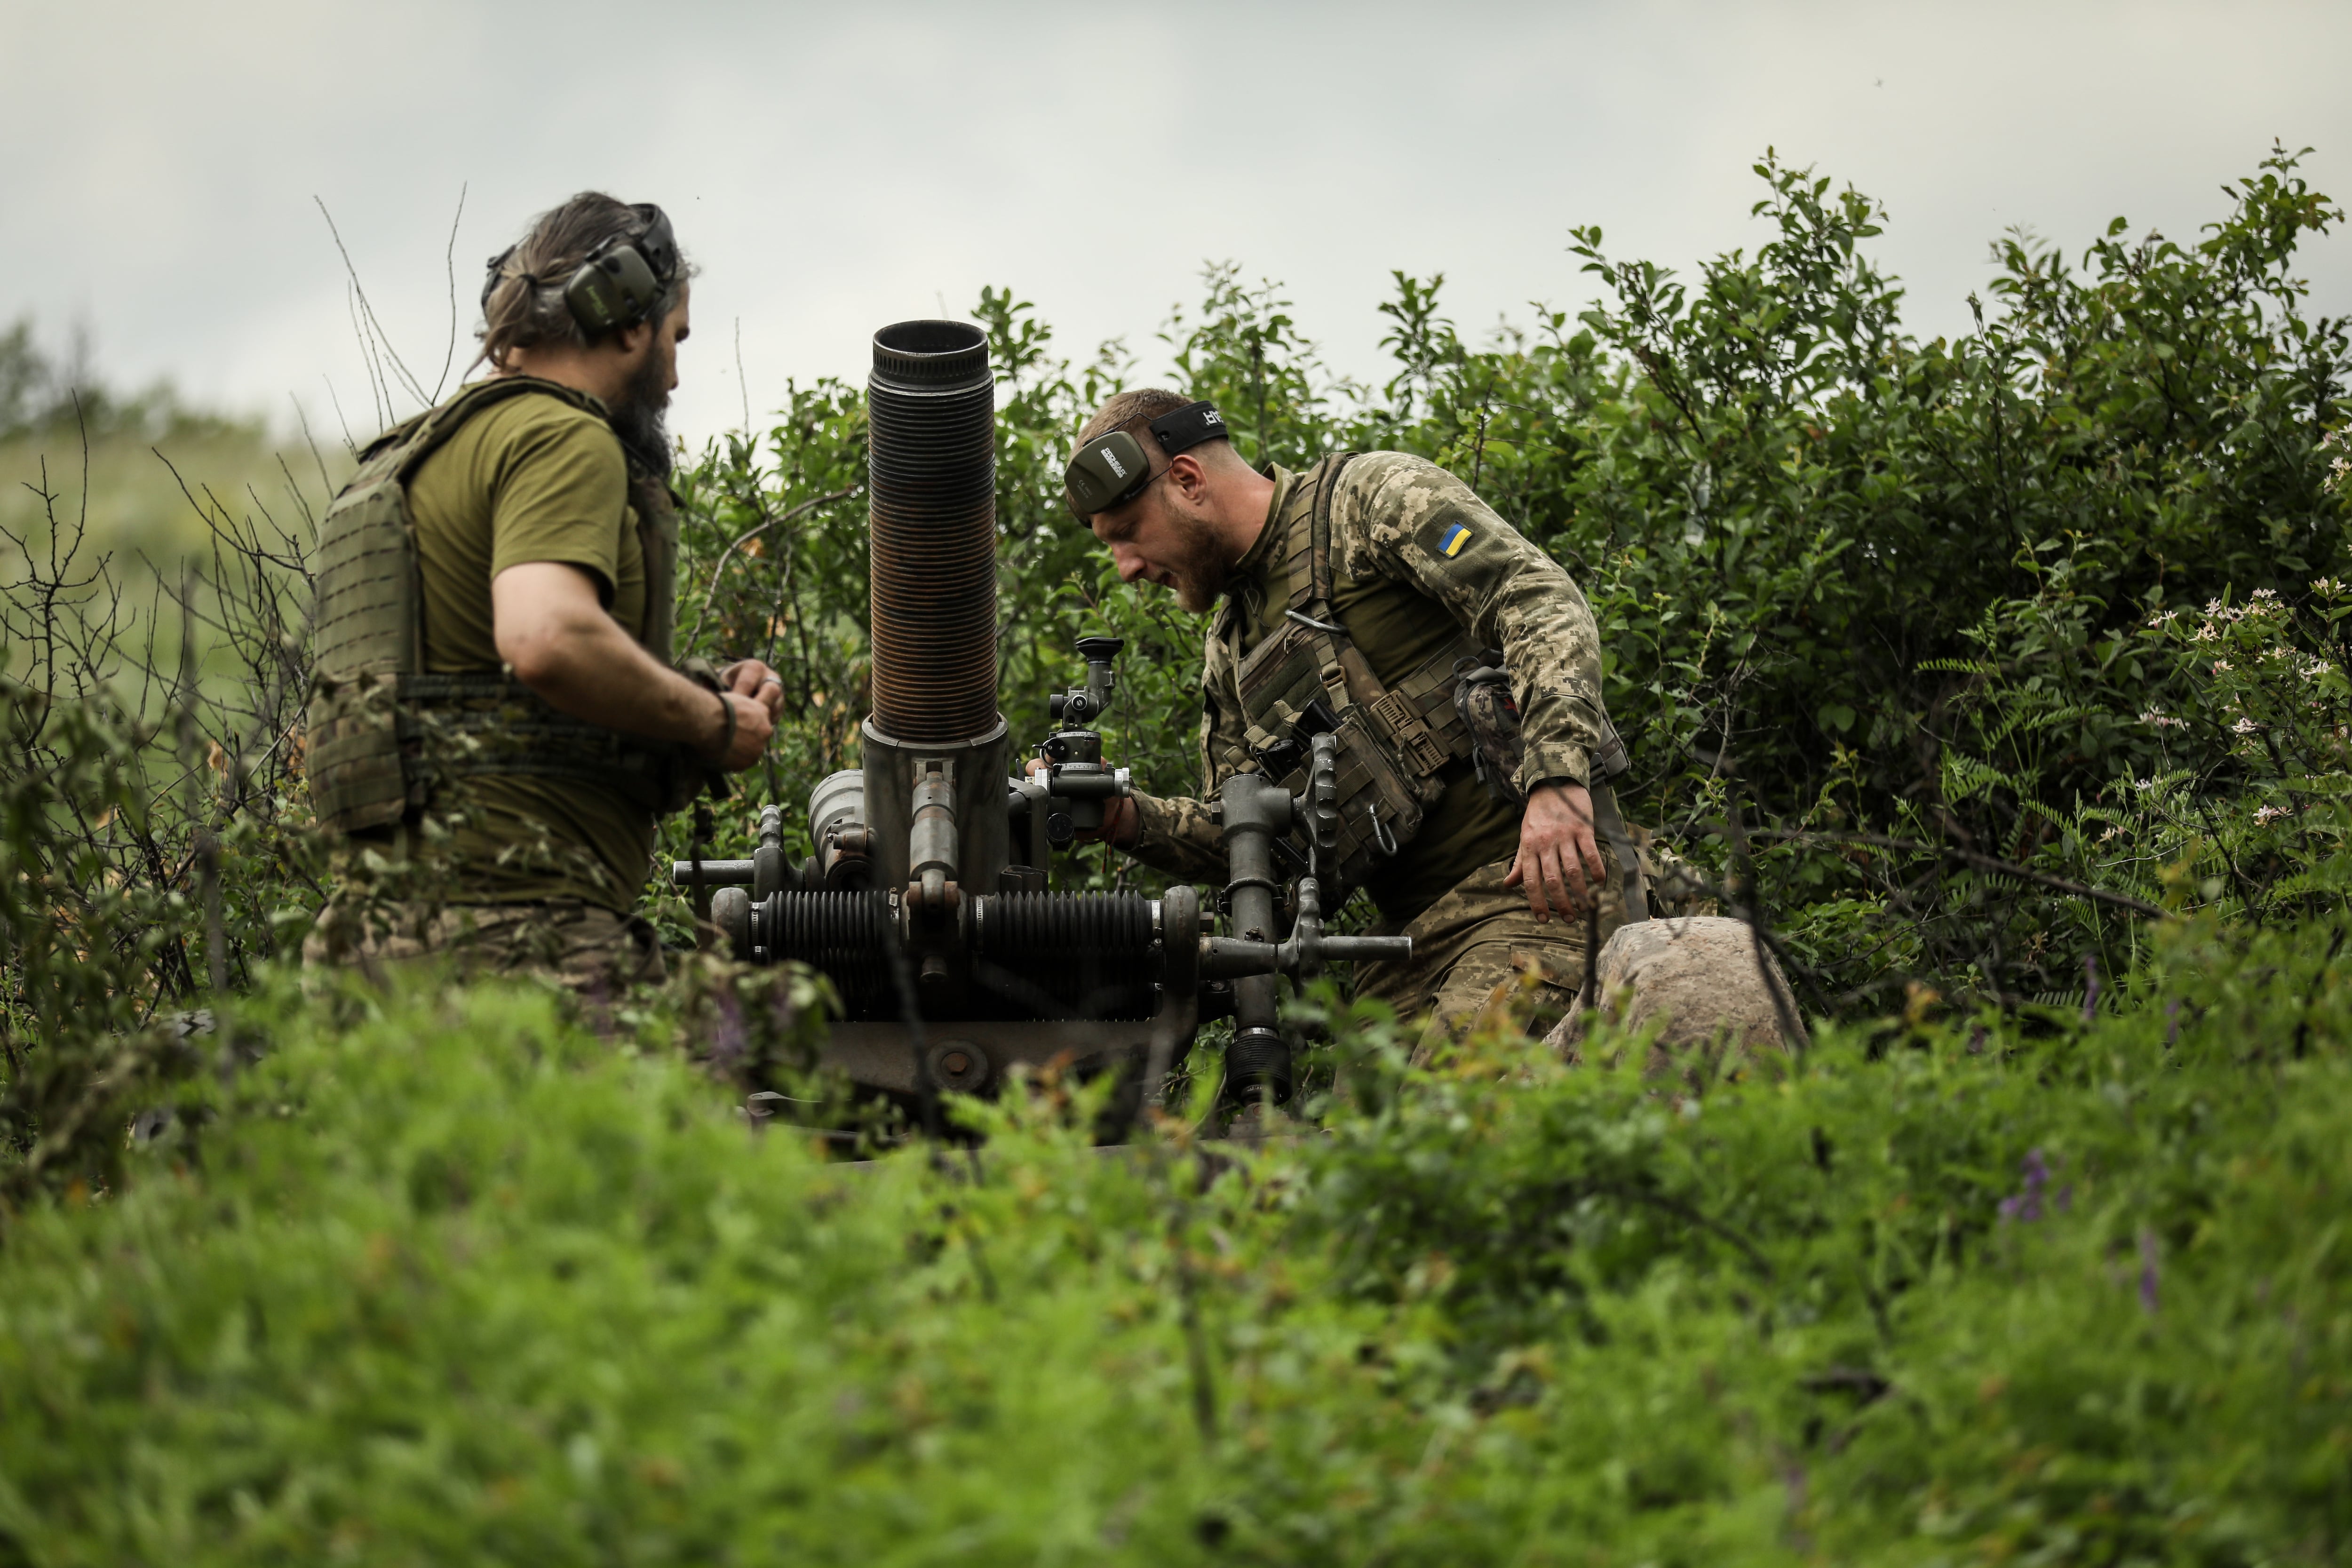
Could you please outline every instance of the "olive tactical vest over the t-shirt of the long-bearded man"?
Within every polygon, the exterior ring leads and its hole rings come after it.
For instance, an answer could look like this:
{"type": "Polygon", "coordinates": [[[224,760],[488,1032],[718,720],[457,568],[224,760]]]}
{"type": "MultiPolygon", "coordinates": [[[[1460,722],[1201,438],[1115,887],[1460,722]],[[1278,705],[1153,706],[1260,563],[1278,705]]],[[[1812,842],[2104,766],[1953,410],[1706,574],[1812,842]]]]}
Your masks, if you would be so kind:
{"type": "MultiPolygon", "coordinates": [[[[619,790],[654,813],[682,809],[720,778],[680,745],[557,712],[506,670],[423,672],[423,581],[409,480],[473,414],[522,393],[560,397],[602,418],[593,397],[553,381],[482,381],[379,435],[320,520],[306,773],[318,820],[334,832],[414,820],[435,780],[454,776],[588,783],[619,790]]],[[[647,646],[668,663],[677,621],[677,515],[668,489],[635,458],[630,501],[644,545],[647,646]]]]}

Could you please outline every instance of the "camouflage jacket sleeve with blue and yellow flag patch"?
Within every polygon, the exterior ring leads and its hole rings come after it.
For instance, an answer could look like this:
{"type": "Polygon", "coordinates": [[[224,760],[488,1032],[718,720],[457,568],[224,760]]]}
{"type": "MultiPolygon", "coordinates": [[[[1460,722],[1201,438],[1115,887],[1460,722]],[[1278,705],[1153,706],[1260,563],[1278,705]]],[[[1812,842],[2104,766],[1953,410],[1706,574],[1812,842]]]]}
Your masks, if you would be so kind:
{"type": "Polygon", "coordinates": [[[1451,473],[1369,451],[1331,496],[1331,559],[1355,578],[1411,583],[1479,642],[1503,649],[1526,759],[1519,788],[1590,780],[1602,729],[1602,646],[1566,569],[1451,473]]]}

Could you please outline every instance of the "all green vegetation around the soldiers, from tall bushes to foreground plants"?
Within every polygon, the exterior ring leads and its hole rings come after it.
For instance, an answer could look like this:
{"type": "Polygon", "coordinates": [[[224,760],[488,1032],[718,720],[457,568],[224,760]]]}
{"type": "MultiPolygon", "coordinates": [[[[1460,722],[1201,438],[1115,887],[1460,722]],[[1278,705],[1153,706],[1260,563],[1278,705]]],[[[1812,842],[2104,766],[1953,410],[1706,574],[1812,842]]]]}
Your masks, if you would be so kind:
{"type": "MultiPolygon", "coordinates": [[[[1251,458],[1423,451],[1571,567],[1630,811],[1788,950],[1792,1060],[1411,1070],[1327,990],[1296,1140],[1195,1093],[1105,1154],[1042,1081],[847,1166],[776,1114],[800,976],[687,959],[600,1039],[287,971],[294,517],[209,505],[153,604],[24,550],[0,1566],[2340,1561],[2347,341],[2293,275],[2340,214],[2277,153],[2194,242],[2004,244],[1922,341],[1879,209],[1757,174],[1769,240],[1686,280],[1576,230],[1576,317],[1472,343],[1397,275],[1378,388],[1230,266],[1160,348],[1251,458]]],[[[974,315],[1007,715],[1124,635],[1110,745],[1181,792],[1200,625],[1056,477],[1138,357],[974,315]]],[[[786,804],[856,762],[863,440],[795,386],[680,475],[680,625],[786,672],[786,804]]]]}

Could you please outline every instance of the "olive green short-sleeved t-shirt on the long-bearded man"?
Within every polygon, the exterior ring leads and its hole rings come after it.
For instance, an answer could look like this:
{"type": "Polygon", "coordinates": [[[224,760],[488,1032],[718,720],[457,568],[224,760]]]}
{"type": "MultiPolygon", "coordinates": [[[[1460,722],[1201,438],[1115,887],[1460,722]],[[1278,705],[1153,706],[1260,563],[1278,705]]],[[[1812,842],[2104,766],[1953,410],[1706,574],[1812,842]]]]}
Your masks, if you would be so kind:
{"type": "MultiPolygon", "coordinates": [[[[503,665],[489,581],[527,562],[586,571],[621,630],[644,642],[644,543],[621,440],[600,416],[539,393],[492,404],[416,470],[409,517],[426,672],[503,665]]],[[[652,865],[654,816],[588,783],[456,778],[435,790],[430,813],[456,820],[452,903],[581,898],[626,912],[652,865]]]]}

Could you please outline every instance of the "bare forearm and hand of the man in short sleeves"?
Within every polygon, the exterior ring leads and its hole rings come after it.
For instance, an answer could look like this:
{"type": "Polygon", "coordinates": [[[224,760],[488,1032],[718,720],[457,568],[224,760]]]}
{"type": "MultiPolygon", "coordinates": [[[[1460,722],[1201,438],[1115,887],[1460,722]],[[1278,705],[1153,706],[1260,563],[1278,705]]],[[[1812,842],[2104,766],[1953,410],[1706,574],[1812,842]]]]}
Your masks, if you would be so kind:
{"type": "Polygon", "coordinates": [[[621,630],[595,578],[562,562],[508,567],[489,581],[489,604],[499,658],[574,719],[680,741],[729,771],[748,769],[767,750],[771,708],[741,689],[746,679],[757,689],[767,665],[734,665],[724,693],[696,686],[621,630]]]}

